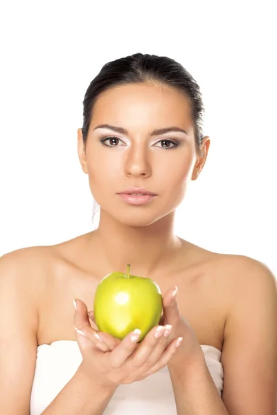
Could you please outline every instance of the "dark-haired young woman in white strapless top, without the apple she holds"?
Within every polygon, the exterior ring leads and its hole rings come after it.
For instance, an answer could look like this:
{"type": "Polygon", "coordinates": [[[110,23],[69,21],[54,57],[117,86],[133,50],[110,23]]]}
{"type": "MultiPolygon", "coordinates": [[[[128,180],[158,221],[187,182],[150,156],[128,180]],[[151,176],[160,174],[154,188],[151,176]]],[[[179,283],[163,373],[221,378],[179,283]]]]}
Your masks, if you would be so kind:
{"type": "Polygon", "coordinates": [[[173,230],[208,155],[199,86],[173,59],[136,53],[105,64],[83,104],[78,155],[99,226],[1,258],[0,413],[274,415],[274,276],[173,230]],[[126,264],[163,295],[142,342],[93,323],[98,283],[126,264]]]}

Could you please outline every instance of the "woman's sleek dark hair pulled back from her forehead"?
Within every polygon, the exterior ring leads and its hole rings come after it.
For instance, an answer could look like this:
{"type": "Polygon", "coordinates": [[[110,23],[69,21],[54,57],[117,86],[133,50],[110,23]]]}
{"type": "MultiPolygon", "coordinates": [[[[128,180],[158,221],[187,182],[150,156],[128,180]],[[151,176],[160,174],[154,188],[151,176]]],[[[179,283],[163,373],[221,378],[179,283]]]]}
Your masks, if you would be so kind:
{"type": "Polygon", "coordinates": [[[194,121],[195,142],[199,151],[203,140],[202,124],[204,104],[199,85],[194,78],[174,59],[165,56],[135,53],[105,64],[91,81],[84,95],[82,136],[87,142],[93,106],[99,95],[114,86],[143,82],[157,82],[175,87],[190,100],[194,121]]]}

